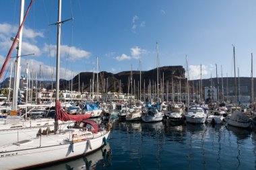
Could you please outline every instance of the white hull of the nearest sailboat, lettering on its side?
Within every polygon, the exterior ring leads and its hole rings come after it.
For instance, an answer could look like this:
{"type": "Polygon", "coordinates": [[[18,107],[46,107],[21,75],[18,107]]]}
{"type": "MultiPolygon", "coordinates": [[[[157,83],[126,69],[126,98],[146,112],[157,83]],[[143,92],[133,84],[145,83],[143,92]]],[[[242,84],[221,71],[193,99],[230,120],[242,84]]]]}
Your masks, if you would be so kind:
{"type": "MultiPolygon", "coordinates": [[[[103,133],[103,132],[102,132],[103,133]]],[[[60,138],[69,138],[70,134],[53,134],[42,136],[28,144],[10,144],[9,146],[0,147],[0,167],[1,169],[26,169],[71,159],[86,155],[100,148],[104,138],[108,138],[110,132],[95,138],[88,138],[82,142],[70,142],[60,140],[60,138]],[[56,137],[57,136],[57,137],[56,137]]]]}

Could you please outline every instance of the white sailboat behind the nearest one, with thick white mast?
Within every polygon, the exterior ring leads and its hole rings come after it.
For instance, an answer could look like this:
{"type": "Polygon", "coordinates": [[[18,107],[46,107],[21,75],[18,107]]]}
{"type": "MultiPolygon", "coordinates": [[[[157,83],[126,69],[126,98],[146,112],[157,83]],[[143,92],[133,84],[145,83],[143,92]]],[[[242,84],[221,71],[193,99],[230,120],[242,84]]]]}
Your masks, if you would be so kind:
{"type": "MultiPolygon", "coordinates": [[[[26,16],[28,15],[28,11],[32,5],[32,1],[30,2],[30,5],[28,6],[28,9],[26,11],[26,15],[23,18],[24,15],[24,1],[21,1],[21,10],[20,10],[20,28],[18,30],[17,35],[15,38],[11,38],[13,40],[13,44],[9,50],[9,53],[7,55],[7,58],[5,59],[5,62],[3,64],[3,67],[1,69],[0,73],[0,78],[1,75],[3,74],[3,71],[5,69],[5,64],[9,60],[9,56],[11,54],[11,51],[13,50],[13,47],[15,45],[15,42],[18,43],[18,56],[17,56],[17,63],[16,63],[16,71],[15,71],[15,87],[13,88],[14,91],[18,92],[18,87],[19,85],[16,85],[20,79],[20,64],[18,63],[18,60],[20,60],[20,54],[21,54],[21,44],[22,44],[22,27],[24,25],[24,21],[26,20],[26,16]]],[[[6,118],[3,118],[0,120],[0,146],[5,145],[7,143],[12,143],[12,142],[18,142],[21,140],[25,140],[28,138],[28,136],[35,136],[36,132],[38,132],[38,128],[41,128],[42,130],[46,130],[46,128],[49,127],[54,127],[55,120],[51,118],[41,118],[41,119],[27,119],[27,115],[31,114],[33,111],[30,110],[26,112],[26,114],[22,116],[17,115],[17,110],[18,110],[18,105],[17,105],[17,98],[18,98],[18,93],[13,93],[13,105],[12,105],[12,111],[9,116],[6,118]]],[[[29,107],[34,107],[38,105],[20,105],[19,108],[28,108],[29,107]]],[[[49,105],[40,105],[40,107],[46,107],[49,105]]],[[[7,108],[5,107],[5,110],[7,108]]],[[[71,121],[73,122],[73,121],[71,121]]],[[[69,122],[59,122],[59,126],[63,128],[62,125],[68,126],[71,123],[69,122]]]]}

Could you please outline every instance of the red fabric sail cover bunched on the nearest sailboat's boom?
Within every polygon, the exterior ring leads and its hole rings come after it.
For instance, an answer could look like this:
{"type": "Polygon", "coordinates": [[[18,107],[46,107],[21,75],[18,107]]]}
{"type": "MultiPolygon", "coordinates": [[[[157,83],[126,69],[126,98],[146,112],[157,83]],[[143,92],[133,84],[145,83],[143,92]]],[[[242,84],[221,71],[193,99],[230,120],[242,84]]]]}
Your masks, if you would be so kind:
{"type": "Polygon", "coordinates": [[[82,121],[85,119],[90,118],[90,114],[82,114],[82,115],[70,115],[64,112],[64,110],[61,108],[61,103],[59,101],[56,101],[55,105],[55,121],[61,120],[61,121],[68,121],[68,120],[74,120],[74,121],[82,121]]]}

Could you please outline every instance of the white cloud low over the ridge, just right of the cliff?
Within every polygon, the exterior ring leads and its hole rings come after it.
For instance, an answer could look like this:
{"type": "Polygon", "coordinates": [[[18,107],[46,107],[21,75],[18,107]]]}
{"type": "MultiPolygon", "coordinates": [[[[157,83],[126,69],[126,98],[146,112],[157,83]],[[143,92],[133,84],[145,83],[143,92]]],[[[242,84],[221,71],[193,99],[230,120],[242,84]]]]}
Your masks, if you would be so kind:
{"type": "Polygon", "coordinates": [[[207,75],[207,67],[205,65],[189,65],[189,79],[200,79],[201,75],[207,75]]]}

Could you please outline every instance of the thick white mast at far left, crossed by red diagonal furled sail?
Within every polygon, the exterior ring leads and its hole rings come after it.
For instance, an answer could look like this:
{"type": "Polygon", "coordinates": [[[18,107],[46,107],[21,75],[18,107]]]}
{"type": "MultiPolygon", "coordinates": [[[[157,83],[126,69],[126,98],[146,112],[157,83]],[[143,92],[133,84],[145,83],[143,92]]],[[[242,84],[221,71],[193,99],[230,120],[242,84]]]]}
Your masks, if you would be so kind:
{"type": "MultiPolygon", "coordinates": [[[[22,25],[24,17],[24,0],[20,0],[20,26],[22,25]]],[[[14,80],[14,88],[13,88],[13,102],[12,102],[12,110],[18,110],[18,90],[20,86],[20,56],[22,54],[22,32],[23,27],[20,30],[20,36],[18,39],[18,52],[16,58],[16,68],[15,68],[15,80],[14,80]]]]}

